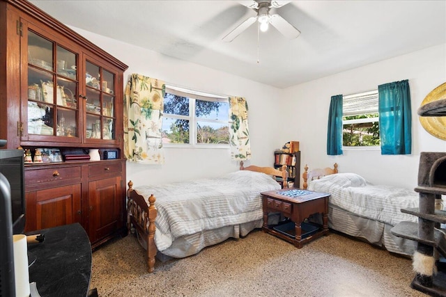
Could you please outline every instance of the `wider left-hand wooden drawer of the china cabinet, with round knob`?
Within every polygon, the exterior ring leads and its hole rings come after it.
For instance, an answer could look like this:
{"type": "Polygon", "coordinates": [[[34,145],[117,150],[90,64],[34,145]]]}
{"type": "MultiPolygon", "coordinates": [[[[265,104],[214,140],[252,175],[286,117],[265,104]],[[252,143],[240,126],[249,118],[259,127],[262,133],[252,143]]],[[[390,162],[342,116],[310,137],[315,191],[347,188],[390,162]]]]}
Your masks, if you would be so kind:
{"type": "Polygon", "coordinates": [[[25,170],[27,185],[80,178],[81,166],[25,170]]]}

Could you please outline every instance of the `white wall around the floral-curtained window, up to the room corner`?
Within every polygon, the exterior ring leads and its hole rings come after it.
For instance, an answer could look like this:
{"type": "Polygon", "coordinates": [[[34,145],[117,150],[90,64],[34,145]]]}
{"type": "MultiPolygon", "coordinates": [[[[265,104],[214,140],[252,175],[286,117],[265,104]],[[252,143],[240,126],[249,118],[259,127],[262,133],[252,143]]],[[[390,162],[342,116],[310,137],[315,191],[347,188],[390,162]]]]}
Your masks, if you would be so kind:
{"type": "MultiPolygon", "coordinates": [[[[235,95],[247,99],[252,159],[245,165],[272,166],[274,150],[279,141],[279,95],[282,90],[249,81],[232,74],[201,65],[180,61],[155,51],[135,47],[125,42],[105,38],[89,31],[71,27],[77,33],[129,65],[124,73],[127,81],[132,73],[162,79],[166,83],[217,95],[235,95]]],[[[255,62],[255,61],[254,61],[255,62]]],[[[165,148],[162,166],[127,163],[127,179],[137,186],[143,182],[174,182],[194,177],[219,176],[238,170],[231,161],[229,149],[165,148]]]]}

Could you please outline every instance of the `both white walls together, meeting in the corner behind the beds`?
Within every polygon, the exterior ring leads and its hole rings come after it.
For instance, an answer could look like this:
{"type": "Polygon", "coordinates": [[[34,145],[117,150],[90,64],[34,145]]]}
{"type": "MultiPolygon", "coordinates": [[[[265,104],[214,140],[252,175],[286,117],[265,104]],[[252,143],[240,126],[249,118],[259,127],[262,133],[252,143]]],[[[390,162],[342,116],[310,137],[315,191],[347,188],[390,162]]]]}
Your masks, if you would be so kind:
{"type": "MultiPolygon", "coordinates": [[[[124,74],[139,73],[167,83],[220,95],[246,97],[252,160],[271,166],[273,152],[287,141],[300,141],[301,172],[339,164],[340,172],[357,172],[375,184],[417,186],[420,152],[444,152],[445,141],[428,134],[420,125],[417,108],[424,97],[446,81],[446,45],[399,56],[354,70],[334,74],[284,90],[249,81],[201,65],[180,61],[155,51],[72,28],[129,65],[124,74]],[[326,154],[327,118],[332,95],[349,95],[378,88],[382,83],[408,79],[413,109],[413,153],[381,155],[379,150],[344,150],[341,156],[326,154]]],[[[173,182],[194,177],[217,176],[237,170],[229,150],[166,148],[162,166],[128,162],[127,177],[141,184],[173,182]]],[[[302,183],[301,183],[302,184],[302,183]]]]}

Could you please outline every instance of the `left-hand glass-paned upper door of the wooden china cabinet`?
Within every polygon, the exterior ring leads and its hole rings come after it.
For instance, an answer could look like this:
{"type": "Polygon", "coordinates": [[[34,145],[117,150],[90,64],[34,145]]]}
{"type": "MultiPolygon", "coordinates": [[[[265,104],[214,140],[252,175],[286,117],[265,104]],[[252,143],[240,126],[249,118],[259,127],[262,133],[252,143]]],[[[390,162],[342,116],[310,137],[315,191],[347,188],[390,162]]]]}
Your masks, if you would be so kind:
{"type": "Polygon", "coordinates": [[[78,55],[28,31],[28,134],[78,136],[78,55]]]}

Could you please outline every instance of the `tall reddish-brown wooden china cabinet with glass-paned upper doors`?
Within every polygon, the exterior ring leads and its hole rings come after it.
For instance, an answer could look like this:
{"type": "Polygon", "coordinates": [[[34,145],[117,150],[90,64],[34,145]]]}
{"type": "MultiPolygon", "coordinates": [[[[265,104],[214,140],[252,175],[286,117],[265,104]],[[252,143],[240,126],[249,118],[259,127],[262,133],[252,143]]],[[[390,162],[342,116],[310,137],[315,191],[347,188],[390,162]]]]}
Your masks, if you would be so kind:
{"type": "Polygon", "coordinates": [[[125,232],[128,66],[24,0],[0,0],[0,65],[0,139],[44,152],[25,163],[25,231],[81,223],[93,248],[125,232]]]}

